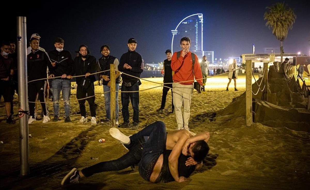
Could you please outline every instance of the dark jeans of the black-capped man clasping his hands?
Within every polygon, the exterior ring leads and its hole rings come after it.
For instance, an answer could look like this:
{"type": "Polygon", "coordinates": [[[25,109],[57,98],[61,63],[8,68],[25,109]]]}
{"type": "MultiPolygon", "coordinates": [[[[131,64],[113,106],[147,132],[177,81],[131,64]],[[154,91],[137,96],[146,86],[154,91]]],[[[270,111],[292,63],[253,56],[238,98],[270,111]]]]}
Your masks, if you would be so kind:
{"type": "MultiPolygon", "coordinates": [[[[131,87],[126,87],[124,82],[122,84],[122,91],[138,91],[139,85],[136,82],[131,87]]],[[[129,123],[129,101],[131,101],[132,108],[134,110],[134,115],[132,120],[136,123],[139,123],[139,92],[134,93],[121,93],[121,101],[122,101],[122,115],[124,119],[124,123],[129,123]]]]}

